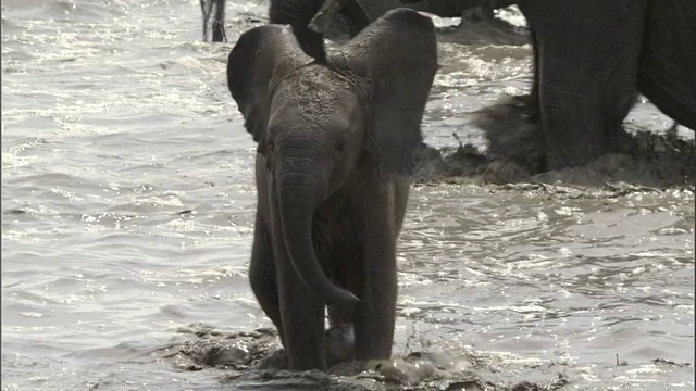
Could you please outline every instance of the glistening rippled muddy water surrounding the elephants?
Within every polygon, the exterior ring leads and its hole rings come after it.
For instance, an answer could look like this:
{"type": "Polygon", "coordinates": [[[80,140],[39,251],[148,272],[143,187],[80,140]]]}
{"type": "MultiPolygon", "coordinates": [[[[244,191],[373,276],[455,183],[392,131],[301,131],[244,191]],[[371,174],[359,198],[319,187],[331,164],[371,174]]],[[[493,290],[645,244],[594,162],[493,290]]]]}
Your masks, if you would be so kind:
{"type": "MultiPolygon", "coordinates": [[[[228,37],[264,13],[229,4],[228,37]]],[[[270,326],[246,277],[232,43],[199,35],[192,0],[2,2],[3,389],[229,390],[245,373],[254,352],[239,371],[190,353],[270,326]]],[[[428,143],[485,147],[468,113],[526,90],[530,48],[461,45],[485,36],[442,37],[428,143]]],[[[629,122],[671,125],[646,102],[629,122]]],[[[693,187],[605,190],[414,186],[395,356],[489,387],[694,389],[693,187]]]]}

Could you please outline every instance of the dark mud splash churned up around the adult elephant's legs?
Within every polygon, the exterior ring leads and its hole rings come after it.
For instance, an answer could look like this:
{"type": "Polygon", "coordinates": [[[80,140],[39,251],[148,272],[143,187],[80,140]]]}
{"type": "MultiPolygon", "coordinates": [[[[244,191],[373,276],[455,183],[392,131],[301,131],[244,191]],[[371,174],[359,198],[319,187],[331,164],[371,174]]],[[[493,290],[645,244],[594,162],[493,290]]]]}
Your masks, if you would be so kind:
{"type": "Polygon", "coordinates": [[[545,192],[562,182],[573,186],[571,192],[577,198],[674,188],[694,191],[696,143],[680,138],[674,128],[657,134],[624,124],[626,140],[621,151],[582,167],[545,172],[544,137],[525,97],[474,113],[473,124],[485,131],[488,148],[482,151],[461,141],[457,149],[422,144],[417,154],[418,182],[527,184],[545,192]],[[597,193],[598,188],[604,190],[597,193]]]}

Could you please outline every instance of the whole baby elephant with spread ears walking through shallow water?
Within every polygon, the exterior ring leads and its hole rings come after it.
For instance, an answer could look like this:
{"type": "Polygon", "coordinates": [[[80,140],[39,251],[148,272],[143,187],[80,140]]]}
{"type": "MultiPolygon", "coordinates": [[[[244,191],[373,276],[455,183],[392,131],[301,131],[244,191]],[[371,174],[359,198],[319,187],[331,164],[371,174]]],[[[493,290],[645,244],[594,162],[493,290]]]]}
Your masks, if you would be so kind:
{"type": "Polygon", "coordinates": [[[290,369],[326,369],[326,305],[332,327],[352,324],[355,358],[391,354],[396,240],[436,70],[433,23],[406,9],[323,63],[281,25],[244,33],[229,54],[258,142],[249,279],[290,369]]]}

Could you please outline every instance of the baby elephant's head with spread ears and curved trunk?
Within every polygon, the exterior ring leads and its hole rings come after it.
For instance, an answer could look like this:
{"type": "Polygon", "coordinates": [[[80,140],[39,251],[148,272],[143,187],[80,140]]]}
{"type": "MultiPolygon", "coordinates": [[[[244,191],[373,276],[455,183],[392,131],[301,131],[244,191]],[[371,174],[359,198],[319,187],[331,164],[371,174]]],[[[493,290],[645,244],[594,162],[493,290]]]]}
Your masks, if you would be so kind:
{"type": "Polygon", "coordinates": [[[306,55],[282,25],[247,30],[229,54],[229,91],[265,159],[289,257],[325,302],[350,306],[358,299],[323,274],[312,216],[352,180],[358,164],[372,162],[385,181],[412,172],[436,49],[432,21],[401,9],[326,63],[306,55]]]}

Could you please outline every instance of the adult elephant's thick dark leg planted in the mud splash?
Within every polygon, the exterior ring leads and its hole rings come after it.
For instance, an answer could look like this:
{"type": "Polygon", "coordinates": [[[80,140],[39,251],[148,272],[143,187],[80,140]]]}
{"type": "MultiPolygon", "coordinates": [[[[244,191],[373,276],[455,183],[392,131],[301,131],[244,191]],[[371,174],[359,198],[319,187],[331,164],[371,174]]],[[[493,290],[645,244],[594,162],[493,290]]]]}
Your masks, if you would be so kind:
{"type": "Polygon", "coordinates": [[[636,92],[647,0],[523,0],[538,50],[548,169],[586,164],[619,143],[636,92]]]}

